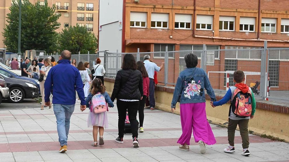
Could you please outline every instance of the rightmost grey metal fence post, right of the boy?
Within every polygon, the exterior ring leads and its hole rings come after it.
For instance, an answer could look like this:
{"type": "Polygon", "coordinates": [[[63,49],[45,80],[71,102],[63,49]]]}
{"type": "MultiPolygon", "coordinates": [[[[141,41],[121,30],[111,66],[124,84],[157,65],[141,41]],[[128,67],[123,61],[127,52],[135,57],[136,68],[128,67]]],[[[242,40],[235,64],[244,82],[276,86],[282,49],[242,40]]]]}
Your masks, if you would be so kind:
{"type": "Polygon", "coordinates": [[[260,78],[260,96],[262,100],[265,100],[265,94],[266,94],[266,89],[267,89],[266,65],[267,65],[267,41],[264,41],[264,49],[261,55],[261,78],[260,78]]]}

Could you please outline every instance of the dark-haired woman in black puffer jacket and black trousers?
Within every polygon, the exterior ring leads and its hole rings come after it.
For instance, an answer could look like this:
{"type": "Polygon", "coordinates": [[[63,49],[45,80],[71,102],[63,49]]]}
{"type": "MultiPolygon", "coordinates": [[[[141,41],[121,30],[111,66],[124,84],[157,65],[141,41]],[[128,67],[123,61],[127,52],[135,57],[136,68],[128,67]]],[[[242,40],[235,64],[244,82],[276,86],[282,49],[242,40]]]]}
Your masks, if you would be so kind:
{"type": "Polygon", "coordinates": [[[118,137],[115,141],[117,143],[124,143],[124,122],[127,110],[133,133],[133,147],[139,147],[136,116],[139,101],[142,100],[143,96],[142,73],[137,70],[135,58],[132,54],[124,55],[121,69],[117,72],[111,95],[112,102],[117,98],[118,137]]]}

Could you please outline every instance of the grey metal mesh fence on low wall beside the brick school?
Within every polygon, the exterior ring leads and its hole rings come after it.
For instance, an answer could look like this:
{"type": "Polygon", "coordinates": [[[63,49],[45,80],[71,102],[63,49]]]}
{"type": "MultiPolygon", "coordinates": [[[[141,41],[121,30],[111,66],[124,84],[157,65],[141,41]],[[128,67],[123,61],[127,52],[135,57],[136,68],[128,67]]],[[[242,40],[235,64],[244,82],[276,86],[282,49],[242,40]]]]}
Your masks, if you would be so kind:
{"type": "MultiPolygon", "coordinates": [[[[158,72],[158,82],[175,85],[179,73],[186,68],[184,56],[194,53],[198,57],[198,66],[206,71],[210,83],[216,91],[225,92],[233,82],[235,70],[242,70],[245,83],[251,87],[255,96],[268,100],[289,100],[289,48],[220,49],[201,51],[168,51],[131,53],[136,61],[143,61],[144,55],[150,55],[158,66],[165,62],[165,67],[158,72]]],[[[115,77],[121,69],[126,53],[105,52],[106,76],[115,77]]]]}

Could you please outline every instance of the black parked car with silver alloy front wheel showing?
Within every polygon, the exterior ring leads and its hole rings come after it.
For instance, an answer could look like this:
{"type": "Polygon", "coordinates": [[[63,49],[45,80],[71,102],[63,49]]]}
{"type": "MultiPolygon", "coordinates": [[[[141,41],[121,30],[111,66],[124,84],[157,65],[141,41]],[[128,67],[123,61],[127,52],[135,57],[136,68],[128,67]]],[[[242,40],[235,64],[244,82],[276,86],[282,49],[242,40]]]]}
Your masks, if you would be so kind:
{"type": "Polygon", "coordinates": [[[1,73],[0,79],[5,80],[10,91],[7,99],[12,103],[20,103],[24,98],[37,98],[39,96],[37,85],[33,82],[23,79],[9,78],[1,73]]]}

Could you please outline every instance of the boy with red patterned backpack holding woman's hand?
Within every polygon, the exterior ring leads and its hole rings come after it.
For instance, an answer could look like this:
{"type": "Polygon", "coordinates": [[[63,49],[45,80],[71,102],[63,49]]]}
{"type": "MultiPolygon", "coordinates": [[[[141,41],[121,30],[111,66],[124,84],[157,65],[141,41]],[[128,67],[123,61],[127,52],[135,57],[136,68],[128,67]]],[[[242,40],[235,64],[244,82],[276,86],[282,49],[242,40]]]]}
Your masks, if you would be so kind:
{"type": "Polygon", "coordinates": [[[231,100],[229,110],[228,124],[228,141],[229,146],[224,149],[224,152],[235,152],[234,138],[235,130],[239,125],[240,134],[242,137],[242,155],[249,156],[249,119],[252,119],[255,114],[256,102],[252,89],[244,84],[245,75],[242,70],[236,70],[233,74],[235,86],[231,86],[225,96],[215,102],[211,102],[212,107],[220,106],[231,100]]]}

